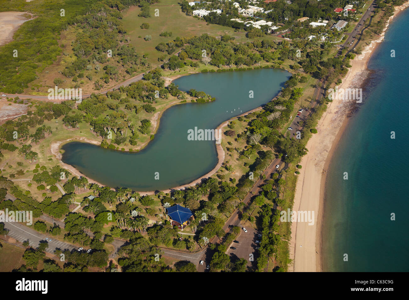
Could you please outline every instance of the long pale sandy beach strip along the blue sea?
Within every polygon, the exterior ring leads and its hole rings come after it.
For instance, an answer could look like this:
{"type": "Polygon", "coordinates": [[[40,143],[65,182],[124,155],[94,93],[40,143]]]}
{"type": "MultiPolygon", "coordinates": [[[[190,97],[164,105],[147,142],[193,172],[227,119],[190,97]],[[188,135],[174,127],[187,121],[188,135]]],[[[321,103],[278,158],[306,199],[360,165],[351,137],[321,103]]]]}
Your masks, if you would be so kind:
{"type": "MultiPolygon", "coordinates": [[[[401,7],[396,8],[395,14],[389,18],[380,37],[367,45],[362,54],[351,62],[352,67],[339,88],[362,87],[360,85],[369,74],[366,69],[369,59],[377,45],[382,42],[389,22],[408,4],[409,2],[406,2],[401,7]]],[[[348,123],[347,117],[351,113],[351,104],[354,102],[354,100],[333,100],[330,102],[327,111],[318,122],[318,133],[312,136],[307,143],[308,154],[302,158],[300,163],[303,166],[303,171],[297,180],[293,210],[314,211],[315,222],[313,225],[309,225],[308,222],[292,222],[290,259],[293,260],[293,264],[289,267],[289,271],[322,271],[321,227],[326,172],[337,143],[348,123]]]]}

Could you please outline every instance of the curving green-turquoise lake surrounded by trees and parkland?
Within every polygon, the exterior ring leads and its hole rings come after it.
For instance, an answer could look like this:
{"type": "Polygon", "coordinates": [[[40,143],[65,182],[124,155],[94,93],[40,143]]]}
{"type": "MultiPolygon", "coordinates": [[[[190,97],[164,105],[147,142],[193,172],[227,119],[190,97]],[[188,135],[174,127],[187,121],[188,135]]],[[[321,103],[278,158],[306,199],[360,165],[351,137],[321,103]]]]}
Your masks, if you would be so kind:
{"type": "Polygon", "coordinates": [[[110,187],[154,191],[187,184],[217,164],[215,141],[188,140],[188,130],[216,129],[223,121],[269,102],[289,77],[290,73],[284,70],[259,69],[178,78],[174,82],[179,89],[204,91],[216,100],[184,103],[167,109],[155,139],[139,153],[70,142],[62,147],[65,151],[62,160],[110,187]],[[249,98],[249,91],[254,92],[254,98],[249,98]],[[155,179],[157,173],[159,180],[155,179]]]}

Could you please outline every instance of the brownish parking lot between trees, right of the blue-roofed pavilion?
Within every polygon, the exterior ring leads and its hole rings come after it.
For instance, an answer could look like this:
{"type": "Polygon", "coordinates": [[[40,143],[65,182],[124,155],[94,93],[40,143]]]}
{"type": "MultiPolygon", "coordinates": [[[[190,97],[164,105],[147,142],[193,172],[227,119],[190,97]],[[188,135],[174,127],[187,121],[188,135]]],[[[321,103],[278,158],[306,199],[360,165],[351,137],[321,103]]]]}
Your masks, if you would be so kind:
{"type": "Polygon", "coordinates": [[[247,232],[242,230],[240,235],[236,238],[238,243],[232,242],[226,253],[230,256],[232,261],[239,258],[245,258],[247,260],[247,266],[250,267],[252,264],[252,261],[249,260],[250,254],[252,254],[254,260],[256,257],[257,244],[255,241],[257,240],[257,231],[252,227],[245,228],[247,229],[247,232]],[[230,249],[230,247],[235,247],[236,250],[230,249]]]}

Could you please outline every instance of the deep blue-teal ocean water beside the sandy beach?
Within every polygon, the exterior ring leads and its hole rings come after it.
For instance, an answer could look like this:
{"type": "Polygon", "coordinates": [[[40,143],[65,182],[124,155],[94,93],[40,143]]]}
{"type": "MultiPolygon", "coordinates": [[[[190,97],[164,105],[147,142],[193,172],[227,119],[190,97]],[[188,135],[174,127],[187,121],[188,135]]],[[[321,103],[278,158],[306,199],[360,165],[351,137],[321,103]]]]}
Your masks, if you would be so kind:
{"type": "Polygon", "coordinates": [[[406,10],[393,19],[369,61],[364,101],[348,120],[330,163],[324,271],[409,271],[408,31],[406,10]]]}

